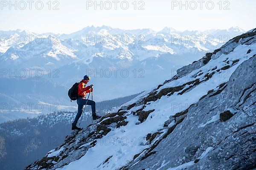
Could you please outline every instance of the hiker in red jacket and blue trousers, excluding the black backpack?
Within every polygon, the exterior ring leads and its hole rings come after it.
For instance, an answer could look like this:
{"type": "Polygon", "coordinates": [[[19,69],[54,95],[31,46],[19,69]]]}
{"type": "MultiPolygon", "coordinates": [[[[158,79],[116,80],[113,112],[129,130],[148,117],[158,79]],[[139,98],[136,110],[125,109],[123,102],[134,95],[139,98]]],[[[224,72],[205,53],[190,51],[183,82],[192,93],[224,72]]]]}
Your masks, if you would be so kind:
{"type": "Polygon", "coordinates": [[[84,79],[81,80],[81,82],[79,82],[78,85],[78,98],[77,98],[77,105],[78,105],[78,112],[76,114],[76,118],[74,120],[74,122],[72,123],[72,130],[81,130],[80,127],[77,127],[76,124],[83,112],[83,107],[84,105],[90,105],[92,108],[92,116],[93,116],[93,120],[99,119],[101,118],[101,116],[98,116],[96,114],[96,106],[95,106],[95,102],[93,100],[87,100],[85,98],[87,93],[90,93],[93,91],[93,85],[89,85],[86,87],[86,84],[90,81],[90,77],[88,77],[87,75],[84,76],[84,79]]]}

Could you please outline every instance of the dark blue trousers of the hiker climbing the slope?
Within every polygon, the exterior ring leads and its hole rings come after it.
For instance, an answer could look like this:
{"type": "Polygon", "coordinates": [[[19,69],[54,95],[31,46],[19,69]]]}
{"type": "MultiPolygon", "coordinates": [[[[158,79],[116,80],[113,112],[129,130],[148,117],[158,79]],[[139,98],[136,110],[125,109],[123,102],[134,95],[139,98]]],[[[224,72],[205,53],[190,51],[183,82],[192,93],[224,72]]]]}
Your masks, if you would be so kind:
{"type": "Polygon", "coordinates": [[[81,117],[81,114],[82,114],[82,112],[83,112],[83,106],[84,106],[85,104],[86,104],[86,105],[90,105],[91,108],[92,108],[92,112],[93,112],[93,113],[96,113],[96,106],[95,106],[95,102],[94,102],[93,100],[88,100],[88,101],[87,101],[87,99],[78,98],[78,99],[76,100],[76,103],[77,103],[77,105],[78,105],[78,112],[77,112],[76,118],[75,118],[75,120],[74,120],[74,122],[73,122],[74,125],[77,124],[79,118],[81,117]],[[86,104],[86,102],[87,102],[87,104],[86,104]]]}

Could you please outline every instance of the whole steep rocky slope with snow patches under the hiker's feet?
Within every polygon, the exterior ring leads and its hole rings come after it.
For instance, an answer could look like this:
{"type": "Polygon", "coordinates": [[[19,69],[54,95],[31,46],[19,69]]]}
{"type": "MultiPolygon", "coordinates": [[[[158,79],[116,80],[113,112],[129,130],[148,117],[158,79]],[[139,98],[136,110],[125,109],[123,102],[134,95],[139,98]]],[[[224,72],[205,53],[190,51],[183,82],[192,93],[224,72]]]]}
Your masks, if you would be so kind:
{"type": "Polygon", "coordinates": [[[255,42],[256,29],[233,38],[117,113],[73,132],[27,169],[229,170],[255,164],[255,42]]]}

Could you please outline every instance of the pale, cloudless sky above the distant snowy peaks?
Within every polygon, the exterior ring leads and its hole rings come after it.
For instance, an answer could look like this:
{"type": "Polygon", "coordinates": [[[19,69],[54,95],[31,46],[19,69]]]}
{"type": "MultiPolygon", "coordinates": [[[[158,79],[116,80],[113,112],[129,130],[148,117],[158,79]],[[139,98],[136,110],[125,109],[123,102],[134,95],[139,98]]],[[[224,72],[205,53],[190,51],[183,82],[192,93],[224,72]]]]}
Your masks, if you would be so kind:
{"type": "MultiPolygon", "coordinates": [[[[116,3],[115,0],[103,0],[100,6],[95,6],[94,0],[35,0],[31,3],[28,1],[24,0],[22,3],[18,0],[15,5],[15,0],[11,0],[14,6],[11,6],[9,0],[0,1],[0,30],[19,28],[37,33],[68,34],[92,25],[122,29],[151,28],[155,31],[160,31],[166,26],[179,31],[227,29],[233,26],[245,31],[256,28],[256,0],[182,0],[185,6],[180,6],[180,0],[116,0],[116,3]],[[38,9],[35,7],[36,2],[38,9]],[[48,2],[51,4],[50,10],[48,2]],[[89,6],[90,3],[92,6],[89,6]],[[32,9],[29,9],[29,4],[32,9]],[[44,7],[39,10],[41,4],[44,7]],[[107,10],[110,4],[112,8],[107,10]],[[129,6],[125,10],[126,4],[129,6]],[[137,4],[136,9],[134,4],[137,4]],[[212,4],[214,7],[210,10],[212,4]],[[53,10],[54,6],[59,9],[53,10]],[[138,10],[140,6],[144,9],[138,10]]],[[[96,2],[100,4],[100,0],[96,2]]]]}

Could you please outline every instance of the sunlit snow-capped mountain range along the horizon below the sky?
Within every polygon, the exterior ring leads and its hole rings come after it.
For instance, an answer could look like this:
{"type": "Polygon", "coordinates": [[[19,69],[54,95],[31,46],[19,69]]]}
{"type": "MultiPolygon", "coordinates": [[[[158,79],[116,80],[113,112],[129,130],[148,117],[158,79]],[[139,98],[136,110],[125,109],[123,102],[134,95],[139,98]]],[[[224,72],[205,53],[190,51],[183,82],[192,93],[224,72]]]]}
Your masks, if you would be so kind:
{"type": "Polygon", "coordinates": [[[183,32],[164,28],[157,32],[151,29],[122,30],[90,26],[72,34],[37,34],[17,29],[0,31],[0,58],[2,63],[18,68],[43,69],[50,68],[49,65],[59,68],[67,64],[63,61],[66,58],[70,58],[69,62],[88,63],[88,59],[97,55],[143,60],[166,53],[210,51],[243,32],[241,28],[183,32]],[[35,57],[41,60],[32,64],[30,60],[35,57]],[[31,62],[31,65],[22,62],[31,62]]]}

